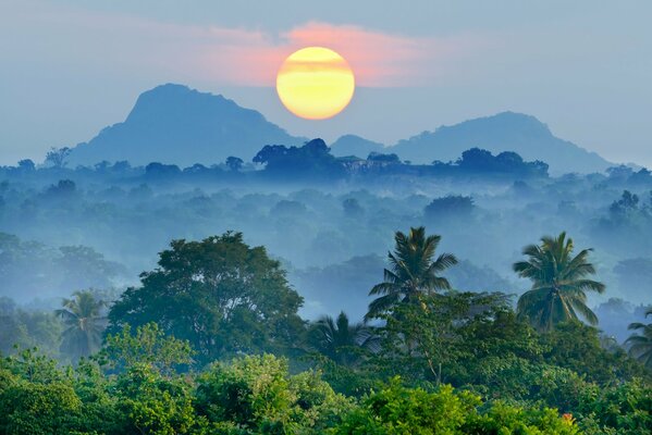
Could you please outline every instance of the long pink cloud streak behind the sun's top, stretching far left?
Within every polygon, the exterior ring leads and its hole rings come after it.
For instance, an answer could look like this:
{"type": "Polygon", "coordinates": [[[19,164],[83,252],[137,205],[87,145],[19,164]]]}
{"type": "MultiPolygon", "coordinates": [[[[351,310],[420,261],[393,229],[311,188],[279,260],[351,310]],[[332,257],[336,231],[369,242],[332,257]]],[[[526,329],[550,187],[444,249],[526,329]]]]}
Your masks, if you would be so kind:
{"type": "Polygon", "coordinates": [[[484,44],[468,36],[409,37],[320,22],[281,33],[185,25],[52,8],[29,0],[24,9],[14,12],[57,35],[60,44],[56,50],[40,54],[50,55],[57,63],[71,67],[94,65],[116,74],[238,86],[274,86],[283,60],[307,46],[323,46],[340,52],[354,70],[359,86],[431,84],[455,77],[460,70],[457,61],[484,44]]]}

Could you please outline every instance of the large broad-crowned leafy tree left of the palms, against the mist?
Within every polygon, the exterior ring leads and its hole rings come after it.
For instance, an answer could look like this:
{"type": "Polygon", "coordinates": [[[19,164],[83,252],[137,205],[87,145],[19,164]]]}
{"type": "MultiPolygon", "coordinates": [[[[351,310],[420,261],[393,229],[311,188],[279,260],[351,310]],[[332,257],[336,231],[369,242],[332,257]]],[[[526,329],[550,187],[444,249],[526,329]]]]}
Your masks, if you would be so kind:
{"type": "Polygon", "coordinates": [[[295,341],[303,299],[263,247],[251,248],[242,233],[231,232],[170,246],[159,268],[140,275],[142,286],[111,307],[109,333],[156,322],[167,335],[188,340],[200,364],[295,341]]]}

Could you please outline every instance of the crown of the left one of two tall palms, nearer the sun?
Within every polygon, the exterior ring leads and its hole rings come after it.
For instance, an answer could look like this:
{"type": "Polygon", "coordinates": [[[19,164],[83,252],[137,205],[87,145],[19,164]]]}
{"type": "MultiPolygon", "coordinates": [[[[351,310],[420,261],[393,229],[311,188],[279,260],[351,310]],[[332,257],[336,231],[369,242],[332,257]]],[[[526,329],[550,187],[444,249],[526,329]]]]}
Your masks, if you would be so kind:
{"type": "Polygon", "coordinates": [[[457,264],[451,253],[442,253],[433,261],[441,236],[426,237],[426,228],[410,228],[409,234],[396,232],[394,252],[389,252],[391,269],[384,270],[382,283],[373,286],[369,295],[379,296],[369,304],[366,320],[391,312],[398,303],[420,301],[421,294],[431,294],[441,289],[450,289],[451,284],[438,276],[447,268],[457,264]]]}

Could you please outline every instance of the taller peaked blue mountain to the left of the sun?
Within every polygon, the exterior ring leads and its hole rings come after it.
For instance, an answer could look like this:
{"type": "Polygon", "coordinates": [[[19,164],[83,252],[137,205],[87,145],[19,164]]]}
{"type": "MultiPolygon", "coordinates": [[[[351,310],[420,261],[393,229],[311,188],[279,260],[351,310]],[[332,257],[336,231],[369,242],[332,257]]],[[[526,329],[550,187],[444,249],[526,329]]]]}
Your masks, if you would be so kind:
{"type": "Polygon", "coordinates": [[[229,156],[250,161],[265,145],[302,145],[305,140],[220,95],[168,84],[142,94],[123,123],[77,145],[70,162],[128,160],[132,164],[153,161],[187,166],[220,163],[229,156]]]}

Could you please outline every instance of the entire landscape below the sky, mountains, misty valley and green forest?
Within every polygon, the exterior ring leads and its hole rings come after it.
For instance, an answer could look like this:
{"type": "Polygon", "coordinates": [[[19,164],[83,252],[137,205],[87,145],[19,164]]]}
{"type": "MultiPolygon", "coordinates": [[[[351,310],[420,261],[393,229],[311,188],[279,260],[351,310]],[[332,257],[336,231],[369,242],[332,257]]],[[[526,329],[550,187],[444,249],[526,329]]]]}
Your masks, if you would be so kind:
{"type": "Polygon", "coordinates": [[[652,174],[514,113],[408,142],[167,85],[0,167],[0,433],[650,433],[652,174]]]}

